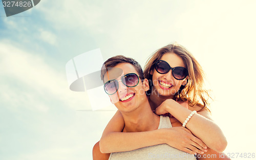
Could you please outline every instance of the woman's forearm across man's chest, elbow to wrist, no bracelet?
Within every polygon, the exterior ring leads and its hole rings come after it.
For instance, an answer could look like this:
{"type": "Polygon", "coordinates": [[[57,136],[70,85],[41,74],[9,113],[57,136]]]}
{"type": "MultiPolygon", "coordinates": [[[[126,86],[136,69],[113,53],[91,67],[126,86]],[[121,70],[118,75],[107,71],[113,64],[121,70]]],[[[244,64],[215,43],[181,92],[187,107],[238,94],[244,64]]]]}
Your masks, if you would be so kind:
{"type": "Polygon", "coordinates": [[[102,153],[131,151],[142,147],[163,144],[164,130],[157,129],[146,132],[111,132],[100,139],[102,153]]]}

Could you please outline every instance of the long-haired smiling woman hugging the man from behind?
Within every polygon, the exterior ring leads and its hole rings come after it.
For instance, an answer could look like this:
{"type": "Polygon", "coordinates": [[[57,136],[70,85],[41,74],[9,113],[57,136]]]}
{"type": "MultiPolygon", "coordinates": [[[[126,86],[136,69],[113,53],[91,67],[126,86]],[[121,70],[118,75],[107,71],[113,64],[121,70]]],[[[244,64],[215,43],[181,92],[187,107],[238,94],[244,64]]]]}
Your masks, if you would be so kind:
{"type": "Polygon", "coordinates": [[[158,115],[170,113],[172,116],[173,128],[165,133],[170,136],[163,140],[161,130],[142,134],[122,133],[124,122],[117,111],[102,134],[100,151],[129,151],[165,142],[190,154],[207,154],[205,152],[214,152],[212,150],[222,152],[227,142],[221,129],[211,121],[207,108],[209,95],[203,88],[203,75],[200,64],[181,45],[169,44],[157,50],[147,61],[144,76],[151,82],[147,94],[152,110],[158,115]],[[182,127],[192,110],[196,110],[197,114],[184,126],[197,138],[182,127]],[[120,141],[122,145],[118,145],[120,141]]]}

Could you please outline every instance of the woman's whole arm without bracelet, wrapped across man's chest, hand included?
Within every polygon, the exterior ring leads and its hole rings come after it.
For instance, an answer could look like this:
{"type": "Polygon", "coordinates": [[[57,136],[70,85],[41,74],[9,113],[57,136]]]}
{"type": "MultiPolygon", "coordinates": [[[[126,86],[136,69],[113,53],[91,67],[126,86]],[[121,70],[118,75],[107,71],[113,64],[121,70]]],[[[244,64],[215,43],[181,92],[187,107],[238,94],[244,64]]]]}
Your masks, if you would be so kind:
{"type": "Polygon", "coordinates": [[[158,144],[168,144],[179,150],[190,154],[201,153],[206,145],[196,138],[184,127],[173,127],[168,129],[157,129],[145,132],[121,132],[124,127],[124,121],[120,111],[117,111],[114,117],[103,131],[99,142],[102,153],[112,153],[121,151],[130,151],[142,147],[158,144]],[[196,146],[197,148],[191,148],[196,146]],[[187,149],[191,148],[191,150],[187,149]]]}

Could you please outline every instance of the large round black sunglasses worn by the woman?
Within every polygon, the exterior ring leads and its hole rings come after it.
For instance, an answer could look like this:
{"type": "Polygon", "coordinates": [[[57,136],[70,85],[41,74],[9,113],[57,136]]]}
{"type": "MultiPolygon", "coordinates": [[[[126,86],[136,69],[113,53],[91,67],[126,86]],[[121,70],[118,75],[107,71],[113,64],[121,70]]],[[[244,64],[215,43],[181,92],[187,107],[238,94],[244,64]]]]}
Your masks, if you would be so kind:
{"type": "Polygon", "coordinates": [[[164,60],[158,60],[155,63],[156,71],[160,74],[166,74],[170,70],[172,70],[172,74],[175,79],[182,80],[187,77],[188,72],[187,69],[182,66],[176,66],[174,68],[170,67],[170,65],[164,60]]]}

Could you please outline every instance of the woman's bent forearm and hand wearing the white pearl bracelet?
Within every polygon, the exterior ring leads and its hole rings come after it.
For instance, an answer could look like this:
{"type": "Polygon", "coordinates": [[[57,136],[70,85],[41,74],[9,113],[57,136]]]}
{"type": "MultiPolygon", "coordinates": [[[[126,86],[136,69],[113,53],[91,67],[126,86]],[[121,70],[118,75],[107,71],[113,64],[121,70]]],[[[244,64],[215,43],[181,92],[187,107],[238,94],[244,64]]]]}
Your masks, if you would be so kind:
{"type": "MultiPolygon", "coordinates": [[[[194,110],[199,110],[199,108],[201,107],[193,107],[194,110]]],[[[191,110],[183,107],[173,99],[167,99],[156,108],[156,113],[162,115],[167,112],[183,124],[191,113],[191,110]]],[[[191,117],[186,124],[186,128],[188,128],[197,138],[202,140],[207,147],[216,150],[217,152],[224,151],[227,146],[226,138],[220,127],[211,120],[209,112],[206,110],[202,110],[191,117]]]]}

